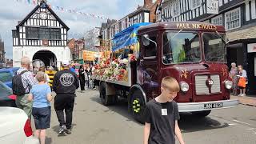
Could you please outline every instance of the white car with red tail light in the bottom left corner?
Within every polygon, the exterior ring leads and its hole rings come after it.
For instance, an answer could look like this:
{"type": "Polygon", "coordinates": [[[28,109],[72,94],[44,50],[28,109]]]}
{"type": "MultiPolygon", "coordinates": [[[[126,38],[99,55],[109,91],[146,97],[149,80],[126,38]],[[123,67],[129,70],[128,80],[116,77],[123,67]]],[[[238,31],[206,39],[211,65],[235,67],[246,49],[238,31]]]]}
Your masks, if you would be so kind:
{"type": "Polygon", "coordinates": [[[0,107],[0,142],[2,144],[39,144],[34,138],[30,119],[15,107],[0,107]]]}

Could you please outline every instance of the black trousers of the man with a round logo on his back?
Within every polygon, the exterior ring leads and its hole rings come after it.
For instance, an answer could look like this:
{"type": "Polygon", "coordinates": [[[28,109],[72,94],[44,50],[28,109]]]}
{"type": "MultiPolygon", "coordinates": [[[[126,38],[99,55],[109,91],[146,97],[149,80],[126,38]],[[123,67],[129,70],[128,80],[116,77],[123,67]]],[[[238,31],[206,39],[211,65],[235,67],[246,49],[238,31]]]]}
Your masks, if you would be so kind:
{"type": "Polygon", "coordinates": [[[54,98],[54,109],[56,111],[60,126],[66,125],[67,129],[71,128],[75,94],[57,94],[54,98]],[[64,111],[66,121],[64,118],[64,111]]]}

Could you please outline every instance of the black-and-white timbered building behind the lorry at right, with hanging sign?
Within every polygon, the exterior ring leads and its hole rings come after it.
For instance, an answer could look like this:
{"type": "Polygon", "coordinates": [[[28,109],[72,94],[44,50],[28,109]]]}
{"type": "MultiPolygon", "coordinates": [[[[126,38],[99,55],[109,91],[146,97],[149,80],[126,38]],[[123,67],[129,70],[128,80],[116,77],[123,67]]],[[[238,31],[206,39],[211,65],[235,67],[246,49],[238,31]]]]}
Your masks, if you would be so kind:
{"type": "Polygon", "coordinates": [[[155,13],[158,22],[201,21],[225,26],[230,40],[227,64],[236,62],[244,67],[249,79],[247,94],[256,94],[255,0],[162,0],[155,13]],[[211,5],[217,13],[209,10],[210,2],[217,4],[211,5]]]}

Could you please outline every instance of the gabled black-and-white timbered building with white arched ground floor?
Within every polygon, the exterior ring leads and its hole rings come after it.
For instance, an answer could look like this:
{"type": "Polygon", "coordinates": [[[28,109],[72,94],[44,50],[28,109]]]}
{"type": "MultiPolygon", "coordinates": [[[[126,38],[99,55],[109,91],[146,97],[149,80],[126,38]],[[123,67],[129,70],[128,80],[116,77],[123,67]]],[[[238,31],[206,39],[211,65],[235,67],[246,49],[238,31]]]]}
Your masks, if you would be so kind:
{"type": "Polygon", "coordinates": [[[28,56],[31,62],[39,59],[45,66],[60,67],[63,60],[70,60],[70,49],[66,46],[68,30],[46,0],[41,0],[12,30],[14,66],[20,66],[22,56],[28,56]]]}

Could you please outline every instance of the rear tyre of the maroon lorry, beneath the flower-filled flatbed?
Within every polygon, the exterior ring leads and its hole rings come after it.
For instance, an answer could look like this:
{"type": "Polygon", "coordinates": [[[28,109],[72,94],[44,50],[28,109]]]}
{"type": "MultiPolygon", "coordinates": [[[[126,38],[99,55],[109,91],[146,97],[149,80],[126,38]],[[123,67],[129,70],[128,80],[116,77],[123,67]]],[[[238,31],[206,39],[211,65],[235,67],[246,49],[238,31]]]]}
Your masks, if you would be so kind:
{"type": "Polygon", "coordinates": [[[116,95],[107,95],[106,94],[106,83],[102,82],[99,87],[99,96],[102,100],[102,104],[105,106],[112,105],[116,103],[118,100],[116,95]]]}

